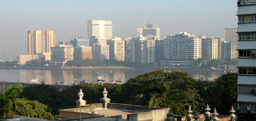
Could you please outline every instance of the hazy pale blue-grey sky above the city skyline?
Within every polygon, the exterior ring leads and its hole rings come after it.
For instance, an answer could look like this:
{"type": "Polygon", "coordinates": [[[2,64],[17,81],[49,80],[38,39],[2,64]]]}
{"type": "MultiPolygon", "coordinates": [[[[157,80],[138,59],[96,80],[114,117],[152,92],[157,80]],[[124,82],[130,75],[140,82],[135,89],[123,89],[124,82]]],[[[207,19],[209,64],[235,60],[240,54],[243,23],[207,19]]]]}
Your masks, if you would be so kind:
{"type": "MultiPolygon", "coordinates": [[[[0,0],[3,52],[27,54],[28,30],[53,30],[56,44],[87,37],[87,20],[112,20],[113,36],[135,37],[149,20],[161,37],[186,31],[224,37],[237,28],[236,0],[0,0]]],[[[13,55],[12,55],[13,56],[13,55]]]]}

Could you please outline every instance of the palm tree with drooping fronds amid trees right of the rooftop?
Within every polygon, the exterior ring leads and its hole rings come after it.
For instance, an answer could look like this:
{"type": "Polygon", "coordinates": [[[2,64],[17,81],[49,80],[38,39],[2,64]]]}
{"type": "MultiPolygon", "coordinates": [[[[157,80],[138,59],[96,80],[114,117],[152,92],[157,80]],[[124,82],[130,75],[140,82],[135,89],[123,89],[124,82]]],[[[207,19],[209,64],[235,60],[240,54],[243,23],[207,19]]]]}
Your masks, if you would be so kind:
{"type": "Polygon", "coordinates": [[[172,108],[173,112],[180,115],[186,114],[185,102],[188,101],[188,94],[183,90],[173,89],[165,77],[159,84],[152,84],[148,90],[151,98],[148,103],[149,107],[172,108]]]}

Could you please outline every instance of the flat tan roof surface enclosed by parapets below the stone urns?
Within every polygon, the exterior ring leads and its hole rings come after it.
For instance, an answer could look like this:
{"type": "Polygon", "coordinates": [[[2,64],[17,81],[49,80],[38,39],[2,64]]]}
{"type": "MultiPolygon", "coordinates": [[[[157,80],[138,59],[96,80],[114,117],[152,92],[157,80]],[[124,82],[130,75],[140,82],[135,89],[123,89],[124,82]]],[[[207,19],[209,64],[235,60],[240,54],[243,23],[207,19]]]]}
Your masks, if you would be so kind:
{"type": "Polygon", "coordinates": [[[121,110],[112,110],[112,109],[98,109],[96,111],[97,111],[97,113],[95,113],[95,114],[105,115],[105,117],[122,115],[122,118],[124,118],[124,119],[127,119],[127,114],[133,114],[132,112],[126,112],[126,111],[121,111],[121,110]]]}

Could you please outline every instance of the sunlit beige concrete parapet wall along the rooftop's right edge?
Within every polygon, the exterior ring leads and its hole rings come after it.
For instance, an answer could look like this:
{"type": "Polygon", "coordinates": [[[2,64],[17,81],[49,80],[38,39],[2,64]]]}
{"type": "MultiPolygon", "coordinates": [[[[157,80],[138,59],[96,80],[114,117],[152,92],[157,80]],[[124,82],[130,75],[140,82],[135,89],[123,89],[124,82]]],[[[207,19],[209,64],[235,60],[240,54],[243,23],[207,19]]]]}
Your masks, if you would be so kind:
{"type": "Polygon", "coordinates": [[[149,112],[127,114],[127,120],[129,121],[164,121],[166,119],[167,108],[151,110],[149,112]]]}

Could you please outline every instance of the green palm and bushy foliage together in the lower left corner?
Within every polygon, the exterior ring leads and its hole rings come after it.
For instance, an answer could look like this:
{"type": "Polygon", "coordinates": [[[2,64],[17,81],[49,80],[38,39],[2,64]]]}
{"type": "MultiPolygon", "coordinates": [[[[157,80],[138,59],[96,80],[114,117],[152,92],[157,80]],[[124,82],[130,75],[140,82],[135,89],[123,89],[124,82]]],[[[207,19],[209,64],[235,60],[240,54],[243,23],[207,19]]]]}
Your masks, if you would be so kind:
{"type": "Polygon", "coordinates": [[[13,84],[7,88],[5,95],[0,95],[0,118],[10,119],[14,114],[54,120],[56,116],[51,114],[51,110],[38,101],[30,101],[25,98],[18,98],[23,91],[21,84],[13,84]]]}

